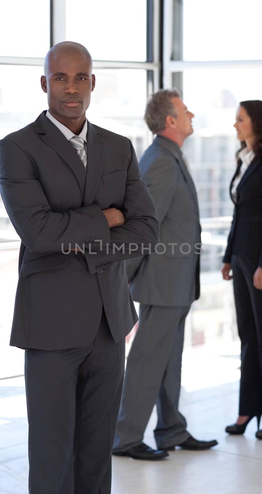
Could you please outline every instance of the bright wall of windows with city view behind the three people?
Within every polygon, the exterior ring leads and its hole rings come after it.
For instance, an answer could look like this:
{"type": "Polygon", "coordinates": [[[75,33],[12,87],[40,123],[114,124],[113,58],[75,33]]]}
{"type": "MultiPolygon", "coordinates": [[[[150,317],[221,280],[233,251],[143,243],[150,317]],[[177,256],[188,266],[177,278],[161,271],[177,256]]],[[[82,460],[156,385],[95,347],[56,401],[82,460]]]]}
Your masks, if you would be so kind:
{"type": "MultiPolygon", "coordinates": [[[[59,41],[78,41],[90,50],[97,82],[87,116],[129,137],[138,159],[153,138],[143,120],[148,96],[160,87],[178,87],[195,114],[194,134],[183,152],[197,187],[204,249],[202,295],[188,317],[186,347],[213,345],[223,352],[226,345],[237,353],[232,286],[223,282],[220,267],[233,210],[235,112],[242,100],[262,99],[262,5],[257,0],[250,0],[248,9],[245,0],[79,0],[85,30],[74,25],[74,5],[73,0],[1,2],[0,138],[47,108],[40,76],[46,52],[59,41]],[[7,18],[13,19],[13,30],[7,18]],[[129,25],[136,26],[135,33],[129,25]]],[[[0,377],[22,369],[22,357],[14,362],[16,349],[8,347],[18,249],[0,201],[0,362],[7,356],[0,377]]]]}

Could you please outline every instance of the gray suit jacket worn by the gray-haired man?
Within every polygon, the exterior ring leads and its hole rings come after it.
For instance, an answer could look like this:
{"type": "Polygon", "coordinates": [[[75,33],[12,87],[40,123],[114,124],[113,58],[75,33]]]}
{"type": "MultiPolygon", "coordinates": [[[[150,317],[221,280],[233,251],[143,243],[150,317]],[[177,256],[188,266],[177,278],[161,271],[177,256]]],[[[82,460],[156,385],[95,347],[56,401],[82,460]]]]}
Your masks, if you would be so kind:
{"type": "Polygon", "coordinates": [[[166,250],[125,262],[133,299],[141,304],[188,306],[200,291],[201,228],[194,182],[179,146],[163,136],[146,150],[140,170],[160,222],[164,246],[157,250],[166,250]]]}

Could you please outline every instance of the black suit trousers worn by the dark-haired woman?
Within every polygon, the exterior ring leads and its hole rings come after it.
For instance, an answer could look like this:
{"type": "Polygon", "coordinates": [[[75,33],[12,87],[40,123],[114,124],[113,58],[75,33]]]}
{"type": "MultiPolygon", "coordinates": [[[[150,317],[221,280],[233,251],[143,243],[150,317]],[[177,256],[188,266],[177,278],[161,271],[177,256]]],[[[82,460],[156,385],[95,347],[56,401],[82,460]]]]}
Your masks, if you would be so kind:
{"type": "Polygon", "coordinates": [[[239,415],[262,413],[262,291],[253,286],[258,263],[236,255],[231,259],[241,340],[239,415]]]}

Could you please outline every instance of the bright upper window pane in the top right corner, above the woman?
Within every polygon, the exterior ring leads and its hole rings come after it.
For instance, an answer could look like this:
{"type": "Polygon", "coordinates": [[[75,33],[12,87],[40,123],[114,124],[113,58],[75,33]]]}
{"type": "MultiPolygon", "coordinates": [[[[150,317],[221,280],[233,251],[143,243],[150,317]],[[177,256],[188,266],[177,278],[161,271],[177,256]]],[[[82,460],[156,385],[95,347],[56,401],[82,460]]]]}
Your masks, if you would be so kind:
{"type": "Polygon", "coordinates": [[[258,0],[183,0],[183,59],[261,59],[261,18],[258,0]]]}

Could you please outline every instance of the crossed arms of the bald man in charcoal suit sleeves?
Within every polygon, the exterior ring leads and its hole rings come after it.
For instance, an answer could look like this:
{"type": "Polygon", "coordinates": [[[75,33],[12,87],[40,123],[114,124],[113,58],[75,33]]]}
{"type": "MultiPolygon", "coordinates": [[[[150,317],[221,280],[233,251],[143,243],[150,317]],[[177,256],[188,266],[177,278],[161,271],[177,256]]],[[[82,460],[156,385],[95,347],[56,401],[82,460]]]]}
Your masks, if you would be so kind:
{"type": "MultiPolygon", "coordinates": [[[[123,210],[104,211],[97,205],[54,212],[48,203],[31,157],[9,138],[0,141],[0,192],[9,218],[23,244],[32,252],[59,252],[70,245],[125,244],[125,252],[116,252],[110,262],[129,257],[128,244],[138,244],[132,256],[139,255],[141,244],[156,244],[159,224],[155,206],[141,180],[131,146],[123,210]],[[125,223],[123,221],[125,220],[125,223]]],[[[90,272],[102,262],[103,252],[87,257],[90,272]],[[96,257],[96,260],[94,259],[96,257]],[[99,257],[99,261],[98,261],[99,257]]],[[[108,260],[108,255],[106,256],[108,260]]]]}

